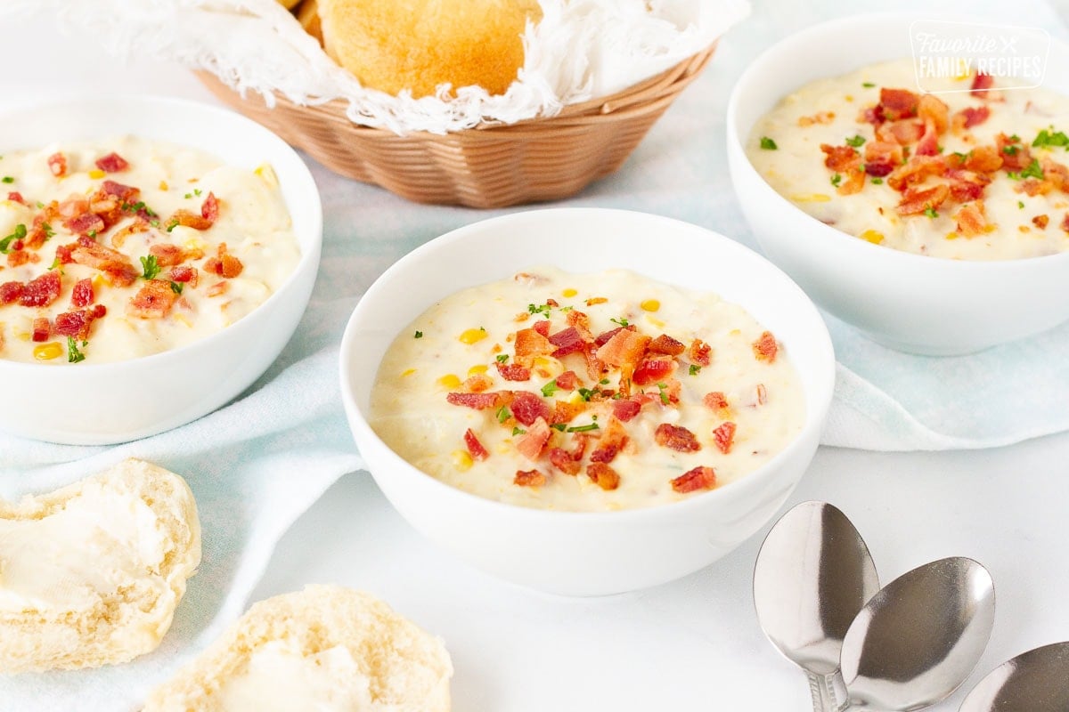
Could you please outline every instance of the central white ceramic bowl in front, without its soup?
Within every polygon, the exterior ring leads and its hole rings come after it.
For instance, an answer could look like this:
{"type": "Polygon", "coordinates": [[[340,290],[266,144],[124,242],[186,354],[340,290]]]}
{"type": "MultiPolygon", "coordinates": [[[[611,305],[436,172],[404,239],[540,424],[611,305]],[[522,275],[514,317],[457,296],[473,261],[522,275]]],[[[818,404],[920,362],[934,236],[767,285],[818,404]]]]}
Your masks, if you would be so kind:
{"type": "Polygon", "coordinates": [[[835,381],[827,330],[783,272],[741,244],[687,223],[606,209],[548,209],[478,222],[431,240],[388,269],[353,313],[341,346],[342,399],[360,454],[393,506],[431,541],[501,579],[572,596],[633,590],[696,571],[738,547],[780,507],[817,448],[835,381]],[[537,244],[538,254],[523,246],[537,244]],[[656,246],[657,258],[649,257],[656,246]],[[801,374],[806,423],[768,464],[683,502],[613,512],[529,509],[423,474],[368,425],[378,364],[404,325],[436,300],[546,262],[573,271],[631,269],[715,291],[786,346],[801,374]]]}

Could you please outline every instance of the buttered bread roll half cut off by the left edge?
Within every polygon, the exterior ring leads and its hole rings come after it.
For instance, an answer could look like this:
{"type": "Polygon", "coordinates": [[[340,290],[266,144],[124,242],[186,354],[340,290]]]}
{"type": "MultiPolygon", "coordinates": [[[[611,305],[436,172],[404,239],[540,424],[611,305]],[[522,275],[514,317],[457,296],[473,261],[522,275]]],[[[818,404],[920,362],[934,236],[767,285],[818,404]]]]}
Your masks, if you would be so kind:
{"type": "Polygon", "coordinates": [[[154,650],[200,556],[189,487],[141,460],[0,500],[0,673],[96,667],[154,650]]]}

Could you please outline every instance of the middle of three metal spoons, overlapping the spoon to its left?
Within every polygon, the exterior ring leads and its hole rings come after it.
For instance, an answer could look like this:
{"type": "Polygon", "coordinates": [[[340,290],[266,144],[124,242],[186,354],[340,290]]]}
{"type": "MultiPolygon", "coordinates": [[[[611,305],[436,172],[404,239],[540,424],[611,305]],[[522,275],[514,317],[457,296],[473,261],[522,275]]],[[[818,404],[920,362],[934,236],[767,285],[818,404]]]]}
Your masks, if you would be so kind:
{"type": "Polygon", "coordinates": [[[979,662],[994,616],[991,574],[971,558],[902,574],[865,604],[842,642],[851,703],[908,712],[945,699],[979,662]]]}

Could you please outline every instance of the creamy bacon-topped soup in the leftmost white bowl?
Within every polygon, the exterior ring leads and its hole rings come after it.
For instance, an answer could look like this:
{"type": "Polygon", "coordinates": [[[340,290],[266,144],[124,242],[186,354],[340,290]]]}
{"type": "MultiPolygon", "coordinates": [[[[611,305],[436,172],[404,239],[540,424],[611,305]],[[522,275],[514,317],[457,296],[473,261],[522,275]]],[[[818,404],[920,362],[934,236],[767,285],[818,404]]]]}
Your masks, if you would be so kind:
{"type": "Polygon", "coordinates": [[[269,165],[118,138],[0,158],[0,358],[104,363],[254,310],[300,250],[269,165]]]}

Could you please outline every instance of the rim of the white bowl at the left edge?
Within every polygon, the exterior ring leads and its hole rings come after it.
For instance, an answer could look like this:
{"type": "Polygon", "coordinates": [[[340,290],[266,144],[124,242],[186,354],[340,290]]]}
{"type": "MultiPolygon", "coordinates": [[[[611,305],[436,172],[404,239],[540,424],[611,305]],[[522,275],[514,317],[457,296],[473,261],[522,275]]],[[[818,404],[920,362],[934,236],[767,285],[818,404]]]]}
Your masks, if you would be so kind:
{"type": "MultiPolygon", "coordinates": [[[[279,148],[284,149],[284,153],[289,153],[296,161],[298,170],[295,172],[285,172],[283,175],[293,176],[298,179],[300,184],[305,184],[308,190],[301,190],[301,192],[307,193],[301,196],[301,200],[311,201],[310,207],[312,208],[312,224],[309,226],[310,234],[312,235],[311,249],[304,249],[298,239],[298,247],[300,250],[300,259],[294,266],[293,271],[285,281],[272,292],[267,299],[260,303],[253,311],[246,314],[244,317],[227,327],[221,331],[217,331],[214,334],[208,334],[204,338],[200,338],[196,342],[180,346],[177,348],[168,349],[167,351],[159,351],[157,353],[150,353],[143,357],[136,357],[134,359],[124,359],[122,361],[109,361],[107,363],[79,363],[76,368],[65,368],[62,364],[40,364],[40,363],[29,363],[22,361],[9,361],[0,359],[0,370],[11,370],[11,371],[30,371],[34,374],[46,373],[46,369],[51,369],[47,373],[55,374],[59,378],[71,378],[76,374],[93,373],[93,374],[104,374],[109,370],[122,369],[129,367],[130,364],[149,364],[153,365],[158,362],[158,365],[164,367],[166,362],[173,359],[186,358],[190,351],[203,348],[211,348],[214,343],[220,338],[226,338],[234,334],[233,330],[245,330],[245,325],[249,323],[248,318],[259,312],[260,310],[268,306],[269,304],[279,301],[280,299],[288,299],[286,292],[289,292],[293,284],[298,280],[298,276],[303,274],[306,270],[312,269],[319,271],[320,255],[323,249],[323,201],[320,196],[319,186],[315,184],[315,178],[312,176],[312,172],[309,170],[308,164],[305,163],[304,159],[297,154],[297,152],[283,141],[277,133],[268,130],[264,126],[255,123],[251,118],[246,118],[239,113],[226,109],[223,107],[214,106],[211,104],[204,104],[202,101],[195,101],[192,99],[179,98],[173,96],[157,96],[155,94],[138,95],[138,94],[119,94],[114,96],[107,97],[68,97],[64,99],[56,99],[43,104],[24,104],[16,107],[12,107],[9,110],[0,113],[2,116],[17,116],[20,113],[27,113],[30,111],[56,111],[56,110],[71,110],[82,108],[89,105],[100,105],[110,107],[111,105],[130,105],[139,104],[146,107],[159,107],[166,109],[168,107],[176,111],[193,111],[202,112],[208,114],[210,116],[215,116],[221,118],[222,121],[234,122],[243,125],[250,131],[260,136],[257,137],[257,141],[263,141],[268,144],[276,144],[279,148]],[[311,264],[310,264],[311,263],[311,264]]],[[[122,106],[119,106],[117,110],[121,110],[122,106]]],[[[124,133],[129,133],[136,136],[135,131],[120,131],[124,133]]],[[[102,135],[103,136],[103,135],[102,135]]],[[[0,139],[2,142],[2,139],[0,139]]],[[[175,141],[179,145],[183,145],[183,142],[175,141]]],[[[192,143],[185,143],[184,145],[190,148],[197,148],[198,151],[204,151],[206,153],[212,153],[205,148],[201,148],[199,145],[192,143]]],[[[273,167],[274,168],[274,167],[273,167]]],[[[286,205],[286,210],[289,211],[289,205],[286,205]]],[[[291,335],[292,338],[292,335],[291,335]]],[[[17,376],[18,373],[12,373],[12,376],[17,376]]]]}

